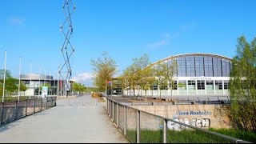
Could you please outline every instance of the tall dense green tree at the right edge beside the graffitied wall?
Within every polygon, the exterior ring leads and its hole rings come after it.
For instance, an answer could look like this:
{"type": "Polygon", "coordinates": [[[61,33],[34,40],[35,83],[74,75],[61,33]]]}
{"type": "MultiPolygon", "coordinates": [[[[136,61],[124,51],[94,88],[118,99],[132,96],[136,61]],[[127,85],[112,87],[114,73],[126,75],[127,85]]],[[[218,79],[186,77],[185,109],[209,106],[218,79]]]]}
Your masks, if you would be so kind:
{"type": "Polygon", "coordinates": [[[226,114],[234,128],[256,130],[256,38],[238,38],[237,54],[230,71],[230,106],[226,114]]]}

